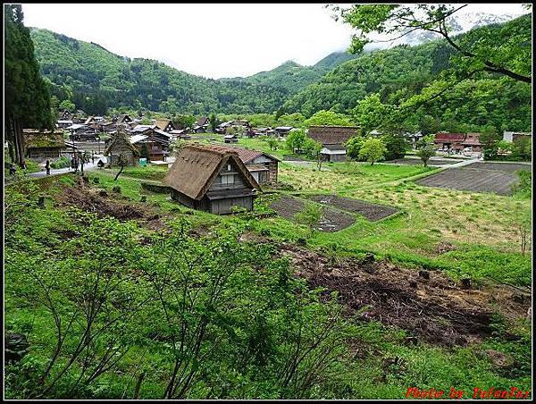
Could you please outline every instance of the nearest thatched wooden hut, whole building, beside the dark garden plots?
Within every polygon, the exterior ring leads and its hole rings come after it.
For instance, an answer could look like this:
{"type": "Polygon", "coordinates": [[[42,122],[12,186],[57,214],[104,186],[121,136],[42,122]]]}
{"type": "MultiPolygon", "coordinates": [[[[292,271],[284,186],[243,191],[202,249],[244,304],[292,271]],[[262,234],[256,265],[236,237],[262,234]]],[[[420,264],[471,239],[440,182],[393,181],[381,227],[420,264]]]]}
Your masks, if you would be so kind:
{"type": "Polygon", "coordinates": [[[236,152],[201,146],[182,147],[164,183],[172,199],[215,215],[230,214],[235,206],[253,210],[261,190],[236,152]]]}

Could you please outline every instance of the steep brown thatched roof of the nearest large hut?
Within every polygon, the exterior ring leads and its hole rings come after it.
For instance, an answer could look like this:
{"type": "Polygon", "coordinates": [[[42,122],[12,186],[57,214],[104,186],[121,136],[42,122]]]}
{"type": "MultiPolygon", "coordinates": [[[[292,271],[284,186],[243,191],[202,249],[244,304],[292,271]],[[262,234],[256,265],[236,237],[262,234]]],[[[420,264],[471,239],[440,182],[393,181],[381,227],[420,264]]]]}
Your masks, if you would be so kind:
{"type": "Polygon", "coordinates": [[[201,146],[182,147],[163,182],[189,198],[199,200],[204,197],[222,166],[229,161],[237,165],[239,173],[252,189],[261,189],[237,153],[201,146]]]}

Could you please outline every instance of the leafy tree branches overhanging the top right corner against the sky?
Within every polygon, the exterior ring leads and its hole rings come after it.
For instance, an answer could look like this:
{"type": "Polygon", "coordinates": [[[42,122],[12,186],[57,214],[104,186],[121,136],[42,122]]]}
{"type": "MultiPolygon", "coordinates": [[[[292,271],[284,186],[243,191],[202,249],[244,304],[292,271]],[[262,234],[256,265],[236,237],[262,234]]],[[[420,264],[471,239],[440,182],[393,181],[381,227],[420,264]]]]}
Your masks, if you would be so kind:
{"type": "MultiPolygon", "coordinates": [[[[532,29],[526,21],[523,29],[505,24],[497,32],[487,27],[478,29],[463,40],[452,37],[450,19],[467,4],[356,4],[340,12],[344,22],[357,30],[350,52],[360,52],[371,42],[368,34],[392,34],[389,41],[402,38],[416,30],[424,30],[445,38],[455,49],[456,61],[465,74],[492,72],[514,80],[532,82],[532,29]]],[[[337,17],[338,18],[338,17],[337,17]]]]}

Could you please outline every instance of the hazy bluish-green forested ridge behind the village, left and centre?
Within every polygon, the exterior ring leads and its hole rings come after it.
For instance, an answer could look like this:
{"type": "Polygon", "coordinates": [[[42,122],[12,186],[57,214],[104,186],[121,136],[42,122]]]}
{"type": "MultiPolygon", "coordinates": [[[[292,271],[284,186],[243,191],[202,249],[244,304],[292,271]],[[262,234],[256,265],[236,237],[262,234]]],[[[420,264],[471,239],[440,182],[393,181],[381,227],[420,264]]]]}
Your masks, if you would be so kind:
{"type": "Polygon", "coordinates": [[[211,80],[154,60],[130,60],[46,29],[31,29],[31,38],[58,104],[68,99],[88,114],[121,106],[171,114],[272,113],[290,95],[352,57],[335,54],[318,68],[284,63],[247,79],[211,80]]]}

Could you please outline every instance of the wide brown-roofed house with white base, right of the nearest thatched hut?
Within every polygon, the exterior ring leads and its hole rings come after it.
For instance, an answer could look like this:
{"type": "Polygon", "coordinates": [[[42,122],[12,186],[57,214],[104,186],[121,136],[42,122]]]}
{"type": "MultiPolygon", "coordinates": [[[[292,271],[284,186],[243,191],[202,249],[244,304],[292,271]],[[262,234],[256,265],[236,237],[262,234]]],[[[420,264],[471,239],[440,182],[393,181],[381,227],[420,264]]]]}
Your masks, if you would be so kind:
{"type": "Polygon", "coordinates": [[[307,136],[322,143],[320,151],[322,158],[327,162],[346,160],[346,147],[348,139],[357,135],[356,126],[311,126],[307,136]]]}

